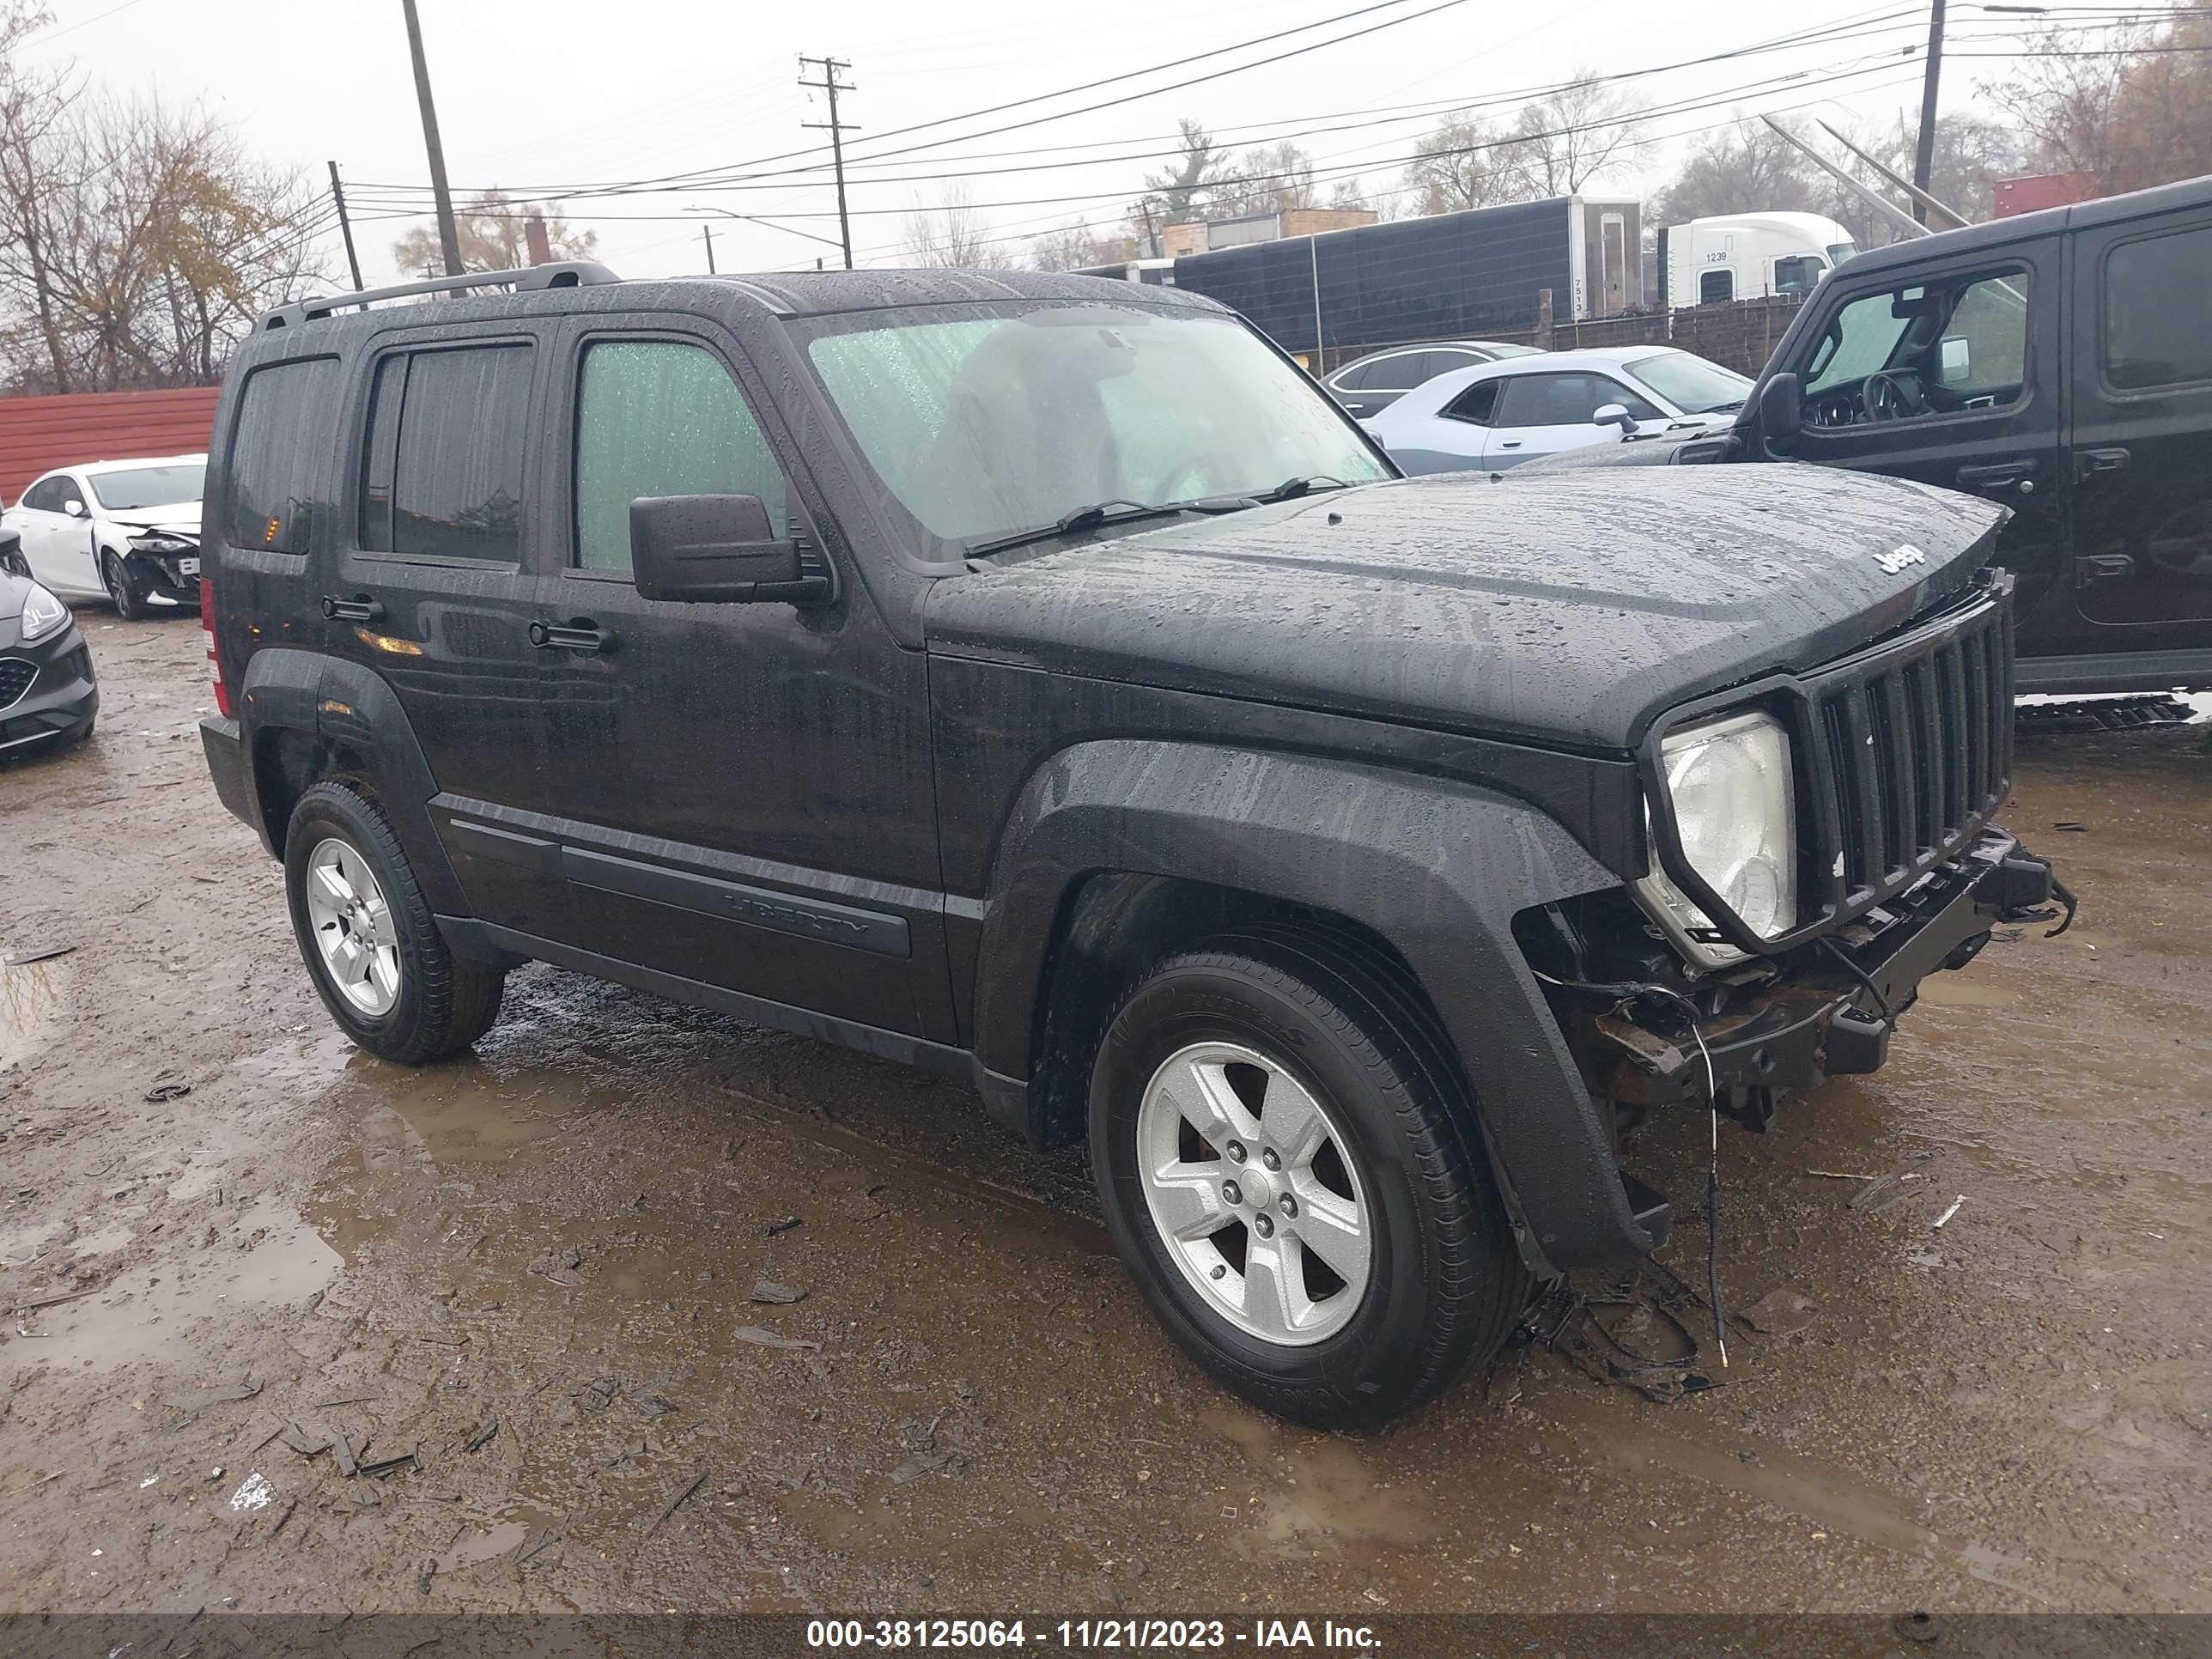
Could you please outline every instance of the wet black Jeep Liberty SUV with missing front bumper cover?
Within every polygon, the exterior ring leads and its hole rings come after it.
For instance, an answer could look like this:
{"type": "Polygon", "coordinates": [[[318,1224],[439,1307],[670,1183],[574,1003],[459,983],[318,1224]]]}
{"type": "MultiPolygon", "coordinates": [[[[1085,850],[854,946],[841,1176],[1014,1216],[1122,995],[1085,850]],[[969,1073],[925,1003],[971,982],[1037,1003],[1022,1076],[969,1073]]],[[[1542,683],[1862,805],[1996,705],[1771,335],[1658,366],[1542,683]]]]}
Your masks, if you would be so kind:
{"type": "Polygon", "coordinates": [[[1365,1427],[1666,1239],[1624,1119],[1874,1071],[2051,900],[2004,515],[1400,480],[1175,290],[549,265],[261,319],[201,732],[363,1048],[544,960],[960,1077],[1206,1369],[1365,1427]]]}

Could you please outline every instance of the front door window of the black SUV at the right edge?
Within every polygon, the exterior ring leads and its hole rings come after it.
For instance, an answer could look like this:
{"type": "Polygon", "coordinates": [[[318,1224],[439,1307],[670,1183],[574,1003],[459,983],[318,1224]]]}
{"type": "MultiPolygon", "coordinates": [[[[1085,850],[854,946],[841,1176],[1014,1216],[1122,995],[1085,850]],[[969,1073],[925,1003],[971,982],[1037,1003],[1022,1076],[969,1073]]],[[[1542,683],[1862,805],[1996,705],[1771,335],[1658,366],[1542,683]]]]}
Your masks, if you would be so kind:
{"type": "Polygon", "coordinates": [[[1814,349],[1818,425],[2004,409],[2026,392],[2028,272],[1860,294],[1814,349]],[[1869,403],[1871,398],[1871,403],[1869,403]]]}

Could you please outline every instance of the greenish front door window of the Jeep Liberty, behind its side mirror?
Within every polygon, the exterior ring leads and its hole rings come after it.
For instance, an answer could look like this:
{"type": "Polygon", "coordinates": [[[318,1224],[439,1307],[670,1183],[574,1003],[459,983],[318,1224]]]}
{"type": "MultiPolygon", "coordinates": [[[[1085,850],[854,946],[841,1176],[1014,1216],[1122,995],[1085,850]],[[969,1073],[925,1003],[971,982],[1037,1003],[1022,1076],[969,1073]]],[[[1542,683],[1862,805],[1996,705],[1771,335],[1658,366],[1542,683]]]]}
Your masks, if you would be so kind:
{"type": "Polygon", "coordinates": [[[630,568],[639,495],[759,495],[783,524],[783,469],[712,352],[675,341],[597,341],[575,396],[575,562],[630,568]]]}

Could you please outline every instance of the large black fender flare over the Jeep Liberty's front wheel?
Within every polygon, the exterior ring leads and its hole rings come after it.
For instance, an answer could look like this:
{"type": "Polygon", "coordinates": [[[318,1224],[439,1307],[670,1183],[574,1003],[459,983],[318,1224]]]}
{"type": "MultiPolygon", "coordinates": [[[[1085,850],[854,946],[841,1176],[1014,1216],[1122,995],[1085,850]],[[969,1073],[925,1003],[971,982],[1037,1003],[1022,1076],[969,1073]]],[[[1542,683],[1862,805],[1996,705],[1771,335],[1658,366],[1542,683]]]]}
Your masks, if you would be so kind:
{"type": "Polygon", "coordinates": [[[1031,1075],[1066,896],[1104,872],[1237,887],[1334,911],[1413,969],[1473,1088],[1480,1133],[1540,1272],[1650,1252],[1601,1104],[1551,1015],[1513,916],[1619,876],[1535,807],[1354,761],[1095,741],[1022,790],[1000,841],[975,1000],[978,1062],[1031,1075]]]}

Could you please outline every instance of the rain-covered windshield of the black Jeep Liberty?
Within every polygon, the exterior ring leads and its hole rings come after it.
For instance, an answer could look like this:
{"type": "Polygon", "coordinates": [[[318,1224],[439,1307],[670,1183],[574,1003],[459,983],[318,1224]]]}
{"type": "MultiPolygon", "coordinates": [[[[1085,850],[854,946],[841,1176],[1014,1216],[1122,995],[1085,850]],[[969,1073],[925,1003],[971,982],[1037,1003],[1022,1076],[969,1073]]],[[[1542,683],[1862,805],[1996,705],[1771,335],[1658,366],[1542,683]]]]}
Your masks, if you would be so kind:
{"type": "Polygon", "coordinates": [[[1133,305],[825,319],[807,356],[885,487],[978,542],[1095,502],[1250,495],[1389,471],[1243,323],[1133,305]]]}

